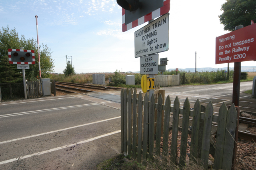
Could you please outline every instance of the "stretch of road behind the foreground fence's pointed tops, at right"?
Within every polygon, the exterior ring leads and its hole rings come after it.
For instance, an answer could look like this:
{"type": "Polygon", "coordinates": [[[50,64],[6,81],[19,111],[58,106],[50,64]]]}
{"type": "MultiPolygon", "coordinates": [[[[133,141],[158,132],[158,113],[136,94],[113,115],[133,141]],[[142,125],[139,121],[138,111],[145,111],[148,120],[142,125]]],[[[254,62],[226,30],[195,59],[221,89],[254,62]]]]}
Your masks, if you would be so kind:
{"type": "MultiPolygon", "coordinates": [[[[188,98],[190,101],[190,107],[197,99],[201,104],[208,104],[212,101],[215,111],[218,111],[218,107],[223,102],[226,105],[232,104],[233,84],[211,84],[211,85],[199,85],[199,86],[176,86],[161,88],[165,90],[165,98],[169,95],[171,101],[174,101],[178,96],[180,106],[188,98]]],[[[240,84],[240,110],[256,112],[256,100],[252,99],[252,95],[243,93],[244,91],[252,90],[252,82],[241,82],[240,84]]],[[[173,103],[173,102],[172,102],[173,103]]]]}

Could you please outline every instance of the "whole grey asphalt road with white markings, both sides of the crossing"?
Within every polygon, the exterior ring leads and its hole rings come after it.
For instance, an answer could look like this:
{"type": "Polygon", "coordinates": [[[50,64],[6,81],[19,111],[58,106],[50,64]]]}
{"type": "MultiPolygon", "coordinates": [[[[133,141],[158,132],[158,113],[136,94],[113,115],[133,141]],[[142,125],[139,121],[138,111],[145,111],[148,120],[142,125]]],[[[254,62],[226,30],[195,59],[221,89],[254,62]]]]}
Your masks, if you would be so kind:
{"type": "MultiPolygon", "coordinates": [[[[232,84],[162,89],[172,101],[232,101],[232,84]]],[[[240,99],[251,89],[252,82],[242,82],[240,99]]],[[[119,154],[120,145],[120,104],[85,95],[0,103],[0,170],[95,169],[119,154]]]]}

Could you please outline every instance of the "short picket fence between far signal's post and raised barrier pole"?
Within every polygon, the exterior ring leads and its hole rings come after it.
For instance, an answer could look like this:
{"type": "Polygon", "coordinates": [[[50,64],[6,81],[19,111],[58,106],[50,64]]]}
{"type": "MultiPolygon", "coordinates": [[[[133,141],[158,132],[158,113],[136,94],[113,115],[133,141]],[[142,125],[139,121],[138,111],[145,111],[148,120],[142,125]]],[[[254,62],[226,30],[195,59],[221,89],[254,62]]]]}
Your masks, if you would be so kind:
{"type": "Polygon", "coordinates": [[[40,82],[39,81],[30,81],[26,82],[27,87],[27,98],[38,98],[41,96],[40,82]]]}

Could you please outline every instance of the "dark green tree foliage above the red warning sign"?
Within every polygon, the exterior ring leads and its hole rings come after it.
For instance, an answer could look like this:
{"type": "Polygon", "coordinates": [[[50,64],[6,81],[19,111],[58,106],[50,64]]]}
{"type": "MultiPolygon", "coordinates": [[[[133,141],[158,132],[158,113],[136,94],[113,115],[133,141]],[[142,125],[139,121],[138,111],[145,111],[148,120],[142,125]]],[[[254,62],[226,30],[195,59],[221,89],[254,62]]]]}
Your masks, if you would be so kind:
{"type": "Polygon", "coordinates": [[[256,19],[256,0],[227,0],[221,10],[224,12],[219,18],[224,30],[234,31],[236,26],[246,27],[256,19]]]}

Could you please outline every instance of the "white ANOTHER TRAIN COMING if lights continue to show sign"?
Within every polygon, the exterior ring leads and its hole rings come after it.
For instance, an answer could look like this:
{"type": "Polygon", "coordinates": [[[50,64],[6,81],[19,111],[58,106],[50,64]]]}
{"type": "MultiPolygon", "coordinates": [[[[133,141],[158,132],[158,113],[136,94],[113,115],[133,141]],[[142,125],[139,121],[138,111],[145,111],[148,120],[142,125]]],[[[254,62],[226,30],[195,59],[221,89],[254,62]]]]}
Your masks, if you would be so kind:
{"type": "Polygon", "coordinates": [[[168,50],[169,14],[165,14],[134,33],[135,58],[168,50]]]}

